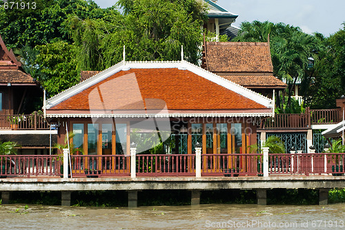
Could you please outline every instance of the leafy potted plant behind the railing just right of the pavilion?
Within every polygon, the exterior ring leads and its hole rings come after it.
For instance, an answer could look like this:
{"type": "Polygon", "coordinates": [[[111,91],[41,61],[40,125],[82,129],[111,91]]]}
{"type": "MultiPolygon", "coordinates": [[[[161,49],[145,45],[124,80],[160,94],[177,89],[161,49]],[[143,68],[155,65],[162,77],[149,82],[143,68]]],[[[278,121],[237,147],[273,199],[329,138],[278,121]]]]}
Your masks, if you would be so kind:
{"type": "MultiPolygon", "coordinates": [[[[262,147],[259,148],[257,144],[249,145],[248,149],[250,153],[263,154],[262,148],[268,147],[268,154],[285,154],[284,142],[278,136],[268,136],[268,138],[262,143],[262,147]]],[[[257,156],[257,176],[264,176],[262,174],[262,156],[257,156]]]]}

